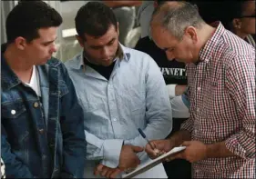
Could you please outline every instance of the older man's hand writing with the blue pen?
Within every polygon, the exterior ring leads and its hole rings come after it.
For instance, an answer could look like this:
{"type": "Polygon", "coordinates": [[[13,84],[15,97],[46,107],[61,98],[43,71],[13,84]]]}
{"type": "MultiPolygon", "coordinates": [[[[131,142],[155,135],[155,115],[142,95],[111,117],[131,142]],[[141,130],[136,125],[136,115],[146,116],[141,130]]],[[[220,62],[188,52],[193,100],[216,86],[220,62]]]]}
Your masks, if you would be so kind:
{"type": "Polygon", "coordinates": [[[150,141],[150,144],[155,146],[155,150],[147,144],[145,151],[151,159],[158,157],[160,154],[169,152],[174,147],[174,144],[169,139],[150,141]]]}

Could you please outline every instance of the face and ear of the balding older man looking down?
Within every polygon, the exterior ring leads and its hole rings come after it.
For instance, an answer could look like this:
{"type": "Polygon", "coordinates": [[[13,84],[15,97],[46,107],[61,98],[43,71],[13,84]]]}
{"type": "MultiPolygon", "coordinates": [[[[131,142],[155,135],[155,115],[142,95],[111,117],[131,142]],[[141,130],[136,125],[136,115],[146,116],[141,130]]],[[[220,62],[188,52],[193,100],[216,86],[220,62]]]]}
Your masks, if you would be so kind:
{"type": "Polygon", "coordinates": [[[181,40],[160,25],[151,25],[151,35],[156,45],[165,51],[169,61],[194,63],[198,37],[194,27],[187,27],[181,40]]]}

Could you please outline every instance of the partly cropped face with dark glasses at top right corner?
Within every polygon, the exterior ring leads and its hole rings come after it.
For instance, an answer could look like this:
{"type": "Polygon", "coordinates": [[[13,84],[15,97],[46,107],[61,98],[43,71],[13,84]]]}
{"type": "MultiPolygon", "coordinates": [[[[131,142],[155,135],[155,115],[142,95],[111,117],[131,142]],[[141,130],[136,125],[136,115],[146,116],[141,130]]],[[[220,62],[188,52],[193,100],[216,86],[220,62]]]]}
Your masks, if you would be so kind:
{"type": "Polygon", "coordinates": [[[242,34],[255,35],[255,1],[245,1],[242,5],[242,16],[233,20],[234,27],[242,34]]]}

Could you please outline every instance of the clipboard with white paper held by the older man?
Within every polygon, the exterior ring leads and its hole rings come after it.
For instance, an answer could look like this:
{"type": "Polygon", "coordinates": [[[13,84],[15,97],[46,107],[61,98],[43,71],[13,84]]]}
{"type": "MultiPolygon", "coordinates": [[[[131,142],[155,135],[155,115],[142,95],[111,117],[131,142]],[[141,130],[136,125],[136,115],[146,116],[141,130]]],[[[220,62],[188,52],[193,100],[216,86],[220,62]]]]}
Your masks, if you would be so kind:
{"type": "Polygon", "coordinates": [[[155,158],[154,160],[150,160],[146,164],[138,165],[138,167],[134,171],[132,171],[132,172],[130,172],[128,174],[123,174],[122,178],[132,178],[132,177],[134,177],[134,176],[136,176],[138,174],[142,174],[142,173],[148,171],[149,169],[153,168],[154,166],[162,163],[164,158],[166,158],[166,157],[168,157],[168,156],[170,156],[172,154],[177,154],[177,153],[183,151],[185,148],[186,148],[186,146],[174,147],[168,153],[162,154],[158,158],[155,158]]]}

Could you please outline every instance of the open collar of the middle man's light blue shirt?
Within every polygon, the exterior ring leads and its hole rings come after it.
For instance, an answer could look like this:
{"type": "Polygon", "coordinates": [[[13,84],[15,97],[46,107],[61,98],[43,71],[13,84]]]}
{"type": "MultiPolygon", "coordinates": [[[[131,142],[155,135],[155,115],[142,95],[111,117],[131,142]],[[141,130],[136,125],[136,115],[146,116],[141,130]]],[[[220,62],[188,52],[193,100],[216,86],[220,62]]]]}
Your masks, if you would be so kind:
{"type": "MultiPolygon", "coordinates": [[[[87,58],[87,56],[84,55],[84,51],[82,51],[77,56],[77,58],[78,58],[77,69],[80,69],[81,67],[84,68],[84,66],[85,66],[84,57],[87,58]]],[[[129,61],[129,59],[130,59],[130,53],[128,52],[127,47],[125,47],[124,45],[121,45],[120,43],[118,44],[117,59],[119,59],[119,60],[123,59],[125,61],[129,61]]],[[[88,59],[88,61],[91,61],[91,60],[88,59]]]]}

